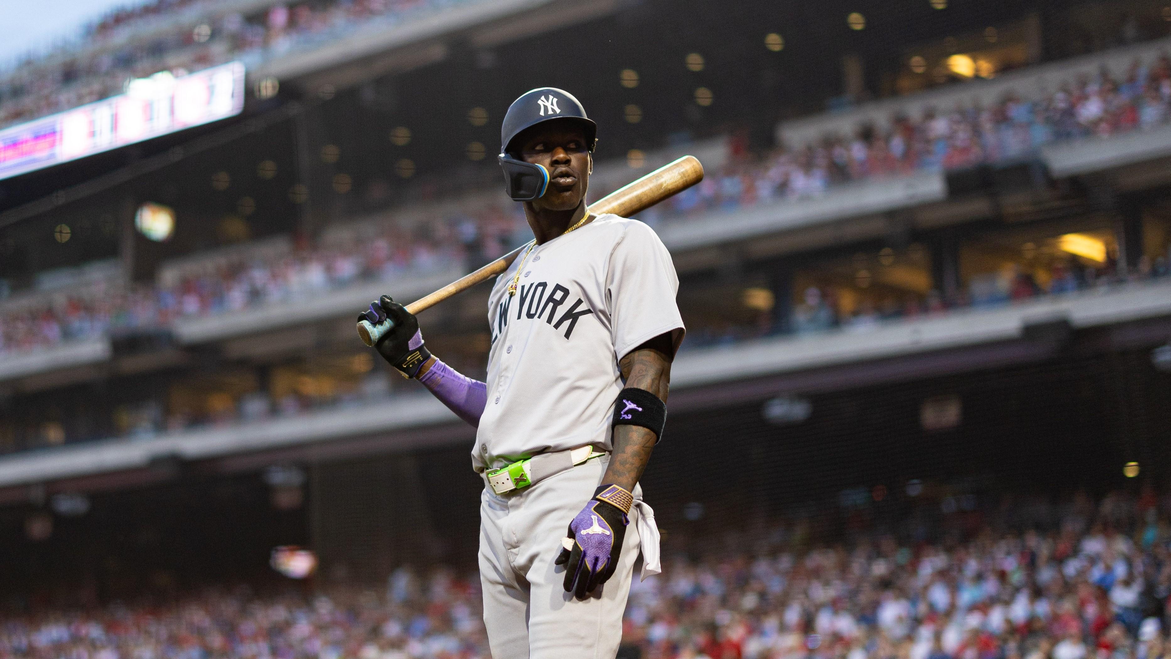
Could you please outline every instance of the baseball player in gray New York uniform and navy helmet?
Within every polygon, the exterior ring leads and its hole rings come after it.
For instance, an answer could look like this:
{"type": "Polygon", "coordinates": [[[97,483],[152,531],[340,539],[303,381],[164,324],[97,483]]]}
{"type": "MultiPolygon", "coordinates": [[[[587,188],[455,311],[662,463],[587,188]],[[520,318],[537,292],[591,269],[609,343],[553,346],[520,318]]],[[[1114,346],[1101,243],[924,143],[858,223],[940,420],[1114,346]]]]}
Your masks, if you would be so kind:
{"type": "Polygon", "coordinates": [[[639,549],[643,576],[658,572],[638,479],[663,434],[684,335],[678,277],[650,227],[588,213],[595,135],[560,89],[528,91],[505,115],[505,187],[534,238],[488,298],[486,383],[431,355],[418,320],[390,297],[359,316],[389,316],[378,352],[477,426],[484,622],[497,659],[614,657],[639,549]]]}

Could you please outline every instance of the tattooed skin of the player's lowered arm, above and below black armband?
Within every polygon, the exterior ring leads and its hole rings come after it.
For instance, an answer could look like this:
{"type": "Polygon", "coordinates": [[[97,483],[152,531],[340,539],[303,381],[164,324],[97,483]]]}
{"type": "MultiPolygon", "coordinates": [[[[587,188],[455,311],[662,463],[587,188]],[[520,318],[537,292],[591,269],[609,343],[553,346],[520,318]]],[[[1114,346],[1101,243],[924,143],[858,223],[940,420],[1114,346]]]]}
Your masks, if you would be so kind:
{"type": "MultiPolygon", "coordinates": [[[[671,383],[672,342],[670,334],[663,334],[643,343],[618,361],[618,371],[626,386],[646,390],[666,403],[671,383]]],[[[646,462],[655,448],[655,433],[642,426],[616,426],[614,428],[614,453],[602,478],[604,483],[614,483],[628,490],[642,478],[646,462]]]]}

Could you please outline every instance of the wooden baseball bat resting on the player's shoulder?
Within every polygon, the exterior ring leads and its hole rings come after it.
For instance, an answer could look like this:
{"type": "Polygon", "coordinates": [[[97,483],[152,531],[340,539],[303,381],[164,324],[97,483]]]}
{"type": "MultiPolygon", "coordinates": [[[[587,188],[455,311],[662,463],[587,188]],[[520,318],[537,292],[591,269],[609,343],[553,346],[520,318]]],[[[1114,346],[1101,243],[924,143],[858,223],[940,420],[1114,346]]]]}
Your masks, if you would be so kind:
{"type": "MultiPolygon", "coordinates": [[[[701,180],[704,180],[704,166],[694,156],[684,156],[590,204],[588,212],[594,215],[614,213],[624,218],[630,217],[687,190],[701,180]]],[[[463,293],[482,281],[500,275],[508,269],[508,266],[512,265],[523,248],[525,246],[518,247],[474,273],[464,275],[439,290],[411,302],[406,306],[406,310],[411,314],[418,314],[457,293],[463,293]]],[[[368,321],[359,321],[358,336],[362,337],[362,342],[367,345],[374,345],[392,327],[393,323],[390,322],[390,318],[386,318],[378,325],[374,325],[368,321]]]]}

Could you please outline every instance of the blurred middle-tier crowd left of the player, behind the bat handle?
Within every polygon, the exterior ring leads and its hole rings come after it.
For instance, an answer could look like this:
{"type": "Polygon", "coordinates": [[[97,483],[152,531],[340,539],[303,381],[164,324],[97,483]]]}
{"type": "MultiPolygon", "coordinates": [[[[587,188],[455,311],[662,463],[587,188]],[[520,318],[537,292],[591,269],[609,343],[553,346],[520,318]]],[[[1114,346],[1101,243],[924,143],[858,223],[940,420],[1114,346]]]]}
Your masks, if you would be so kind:
{"type": "Polygon", "coordinates": [[[208,256],[153,287],[125,289],[111,281],[80,294],[42,293],[42,298],[56,300],[9,311],[0,307],[0,356],[110,332],[151,331],[185,316],[306,300],[361,281],[478,267],[512,247],[518,221],[523,220],[501,207],[411,229],[393,222],[354,226],[323,236],[313,249],[208,256]]]}

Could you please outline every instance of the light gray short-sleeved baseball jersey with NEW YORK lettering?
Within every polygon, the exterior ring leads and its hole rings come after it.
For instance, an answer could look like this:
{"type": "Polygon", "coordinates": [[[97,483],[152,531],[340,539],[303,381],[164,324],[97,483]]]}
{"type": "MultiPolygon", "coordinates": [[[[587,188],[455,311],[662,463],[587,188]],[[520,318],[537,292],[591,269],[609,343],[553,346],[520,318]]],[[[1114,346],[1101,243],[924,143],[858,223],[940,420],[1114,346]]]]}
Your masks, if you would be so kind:
{"type": "MultiPolygon", "coordinates": [[[[523,253],[522,253],[523,254],[523,253]]],[[[618,359],[660,334],[683,339],[679,279],[658,235],[607,214],[536,246],[488,298],[488,400],[472,461],[501,467],[545,451],[610,448],[618,359]]]]}

